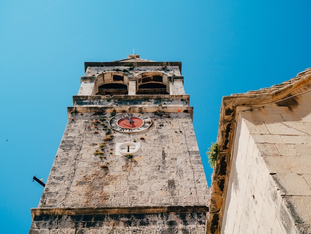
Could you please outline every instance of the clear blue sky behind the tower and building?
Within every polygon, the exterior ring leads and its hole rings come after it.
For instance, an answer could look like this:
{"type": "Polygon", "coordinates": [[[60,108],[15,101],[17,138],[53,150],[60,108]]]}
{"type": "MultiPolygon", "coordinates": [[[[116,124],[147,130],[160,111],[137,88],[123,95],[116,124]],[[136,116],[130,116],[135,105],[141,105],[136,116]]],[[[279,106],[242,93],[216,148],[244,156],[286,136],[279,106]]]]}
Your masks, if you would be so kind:
{"type": "Polygon", "coordinates": [[[311,1],[0,1],[0,227],[27,233],[78,93],[84,62],[181,61],[205,152],[223,96],[311,67],[311,1]],[[6,141],[7,139],[7,141],[6,141]]]}

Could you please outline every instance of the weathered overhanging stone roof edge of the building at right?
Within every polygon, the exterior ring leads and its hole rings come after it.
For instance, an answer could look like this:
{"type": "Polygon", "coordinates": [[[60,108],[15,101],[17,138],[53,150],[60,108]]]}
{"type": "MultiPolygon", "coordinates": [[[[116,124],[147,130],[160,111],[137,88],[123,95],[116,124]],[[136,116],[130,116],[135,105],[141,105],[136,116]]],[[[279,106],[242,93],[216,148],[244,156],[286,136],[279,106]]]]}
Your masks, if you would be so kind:
{"type": "Polygon", "coordinates": [[[270,88],[259,91],[250,91],[243,94],[234,94],[223,97],[217,143],[220,152],[212,174],[211,203],[207,221],[207,234],[221,232],[225,199],[228,186],[229,173],[232,158],[232,146],[236,127],[238,107],[261,107],[287,98],[290,94],[299,94],[298,89],[311,82],[311,68],[297,74],[296,77],[270,88]]]}

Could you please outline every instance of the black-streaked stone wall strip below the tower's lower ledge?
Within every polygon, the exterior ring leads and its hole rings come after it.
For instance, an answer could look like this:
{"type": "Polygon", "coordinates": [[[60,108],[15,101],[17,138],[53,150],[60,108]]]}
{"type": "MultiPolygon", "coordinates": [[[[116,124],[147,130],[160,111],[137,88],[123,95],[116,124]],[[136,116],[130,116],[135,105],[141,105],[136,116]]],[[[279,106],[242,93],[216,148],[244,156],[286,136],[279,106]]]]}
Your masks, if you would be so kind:
{"type": "MultiPolygon", "coordinates": [[[[152,210],[152,209],[151,209],[152,210]]],[[[201,234],[206,212],[141,212],[34,217],[30,234],[201,234]]]]}

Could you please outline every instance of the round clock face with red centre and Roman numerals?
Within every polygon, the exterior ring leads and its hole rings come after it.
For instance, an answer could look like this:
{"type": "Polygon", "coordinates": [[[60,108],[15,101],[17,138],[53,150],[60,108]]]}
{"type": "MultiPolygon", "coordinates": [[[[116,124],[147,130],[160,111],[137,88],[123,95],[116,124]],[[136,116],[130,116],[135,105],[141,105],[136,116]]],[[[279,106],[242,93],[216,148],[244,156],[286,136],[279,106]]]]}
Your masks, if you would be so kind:
{"type": "Polygon", "coordinates": [[[140,113],[122,113],[110,119],[110,126],[120,132],[143,131],[151,126],[150,117],[140,113]]]}

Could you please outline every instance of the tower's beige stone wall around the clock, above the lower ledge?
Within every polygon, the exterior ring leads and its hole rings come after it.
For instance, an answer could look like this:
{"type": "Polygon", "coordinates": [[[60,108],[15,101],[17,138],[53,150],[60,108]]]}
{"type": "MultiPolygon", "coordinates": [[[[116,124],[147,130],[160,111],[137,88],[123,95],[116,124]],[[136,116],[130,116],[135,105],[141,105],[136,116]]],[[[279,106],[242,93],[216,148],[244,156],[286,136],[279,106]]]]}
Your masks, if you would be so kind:
{"type": "Polygon", "coordinates": [[[153,119],[151,128],[131,134],[107,134],[108,117],[69,119],[39,207],[206,205],[207,183],[190,115],[145,114],[153,119]],[[92,123],[100,118],[104,126],[92,123]],[[109,135],[112,140],[103,140],[109,135]],[[126,141],[140,142],[141,155],[115,155],[116,142],[126,141]],[[103,142],[104,154],[94,155],[103,142]]]}

